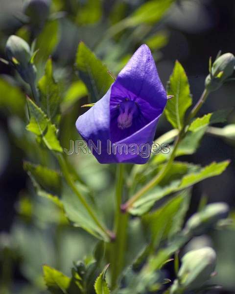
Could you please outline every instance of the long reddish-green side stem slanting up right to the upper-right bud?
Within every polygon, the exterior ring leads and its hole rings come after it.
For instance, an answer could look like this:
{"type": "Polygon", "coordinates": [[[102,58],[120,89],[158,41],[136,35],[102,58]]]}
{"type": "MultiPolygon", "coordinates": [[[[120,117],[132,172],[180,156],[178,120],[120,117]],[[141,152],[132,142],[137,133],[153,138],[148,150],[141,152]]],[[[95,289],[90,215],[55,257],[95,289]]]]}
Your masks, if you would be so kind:
{"type": "Polygon", "coordinates": [[[164,166],[164,168],[152,180],[150,180],[145,186],[143,186],[140,191],[138,191],[125,204],[121,206],[121,209],[123,212],[128,211],[133,206],[133,204],[141,198],[141,196],[143,196],[146,192],[151,190],[153,187],[155,187],[164,179],[164,176],[169,171],[171,164],[173,163],[175,159],[177,148],[179,147],[181,140],[184,138],[187,132],[188,123],[190,123],[191,119],[193,119],[196,116],[196,114],[198,113],[198,111],[200,110],[204,102],[206,101],[206,98],[208,97],[209,94],[210,92],[207,89],[205,89],[200,99],[197,101],[196,105],[193,107],[193,109],[189,113],[188,118],[186,119],[182,130],[180,131],[179,135],[177,136],[175,140],[173,151],[169,157],[168,162],[164,166]]]}

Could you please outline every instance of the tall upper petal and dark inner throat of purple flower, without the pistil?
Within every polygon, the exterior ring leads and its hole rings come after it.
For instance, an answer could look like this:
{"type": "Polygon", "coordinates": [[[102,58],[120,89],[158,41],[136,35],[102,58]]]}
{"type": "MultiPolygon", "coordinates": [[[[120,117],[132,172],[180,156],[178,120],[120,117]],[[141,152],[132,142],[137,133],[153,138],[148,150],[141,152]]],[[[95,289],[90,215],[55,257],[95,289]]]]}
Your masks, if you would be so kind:
{"type": "Polygon", "coordinates": [[[166,92],[150,49],[142,45],[118,74],[112,86],[110,98],[112,141],[122,140],[153,121],[163,112],[166,100],[166,92]],[[136,101],[141,111],[138,120],[133,121],[130,128],[120,130],[116,123],[117,106],[120,102],[125,101],[125,98],[136,101]]]}

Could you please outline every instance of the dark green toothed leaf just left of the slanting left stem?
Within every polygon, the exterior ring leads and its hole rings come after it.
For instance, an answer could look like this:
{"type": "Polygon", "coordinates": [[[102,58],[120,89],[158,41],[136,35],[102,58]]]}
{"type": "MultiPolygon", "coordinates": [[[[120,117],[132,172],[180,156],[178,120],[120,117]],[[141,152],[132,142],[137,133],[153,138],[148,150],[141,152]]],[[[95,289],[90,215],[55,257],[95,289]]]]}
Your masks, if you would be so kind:
{"type": "Polygon", "coordinates": [[[58,172],[41,165],[34,165],[27,161],[24,162],[24,170],[34,178],[43,190],[55,195],[60,195],[62,182],[58,172]]]}

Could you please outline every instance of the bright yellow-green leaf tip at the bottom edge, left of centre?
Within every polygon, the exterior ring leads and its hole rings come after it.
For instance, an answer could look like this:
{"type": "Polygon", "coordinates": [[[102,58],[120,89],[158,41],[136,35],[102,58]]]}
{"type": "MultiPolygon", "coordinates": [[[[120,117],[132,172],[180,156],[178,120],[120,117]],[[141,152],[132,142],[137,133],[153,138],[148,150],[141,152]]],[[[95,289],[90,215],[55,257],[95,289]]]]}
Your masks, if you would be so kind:
{"type": "Polygon", "coordinates": [[[67,290],[70,287],[71,278],[67,277],[62,272],[48,266],[43,267],[43,273],[47,289],[50,291],[50,293],[69,294],[67,290]]]}

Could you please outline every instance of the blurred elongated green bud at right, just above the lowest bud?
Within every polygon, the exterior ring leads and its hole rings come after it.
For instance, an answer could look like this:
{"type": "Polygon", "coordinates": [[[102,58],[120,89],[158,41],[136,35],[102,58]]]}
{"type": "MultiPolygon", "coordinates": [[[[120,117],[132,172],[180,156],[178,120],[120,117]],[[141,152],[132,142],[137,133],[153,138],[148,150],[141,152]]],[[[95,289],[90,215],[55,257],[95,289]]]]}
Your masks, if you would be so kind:
{"type": "Polygon", "coordinates": [[[185,230],[192,235],[201,235],[217,221],[227,218],[228,213],[229,206],[226,203],[208,204],[202,211],[195,213],[188,219],[185,230]]]}

